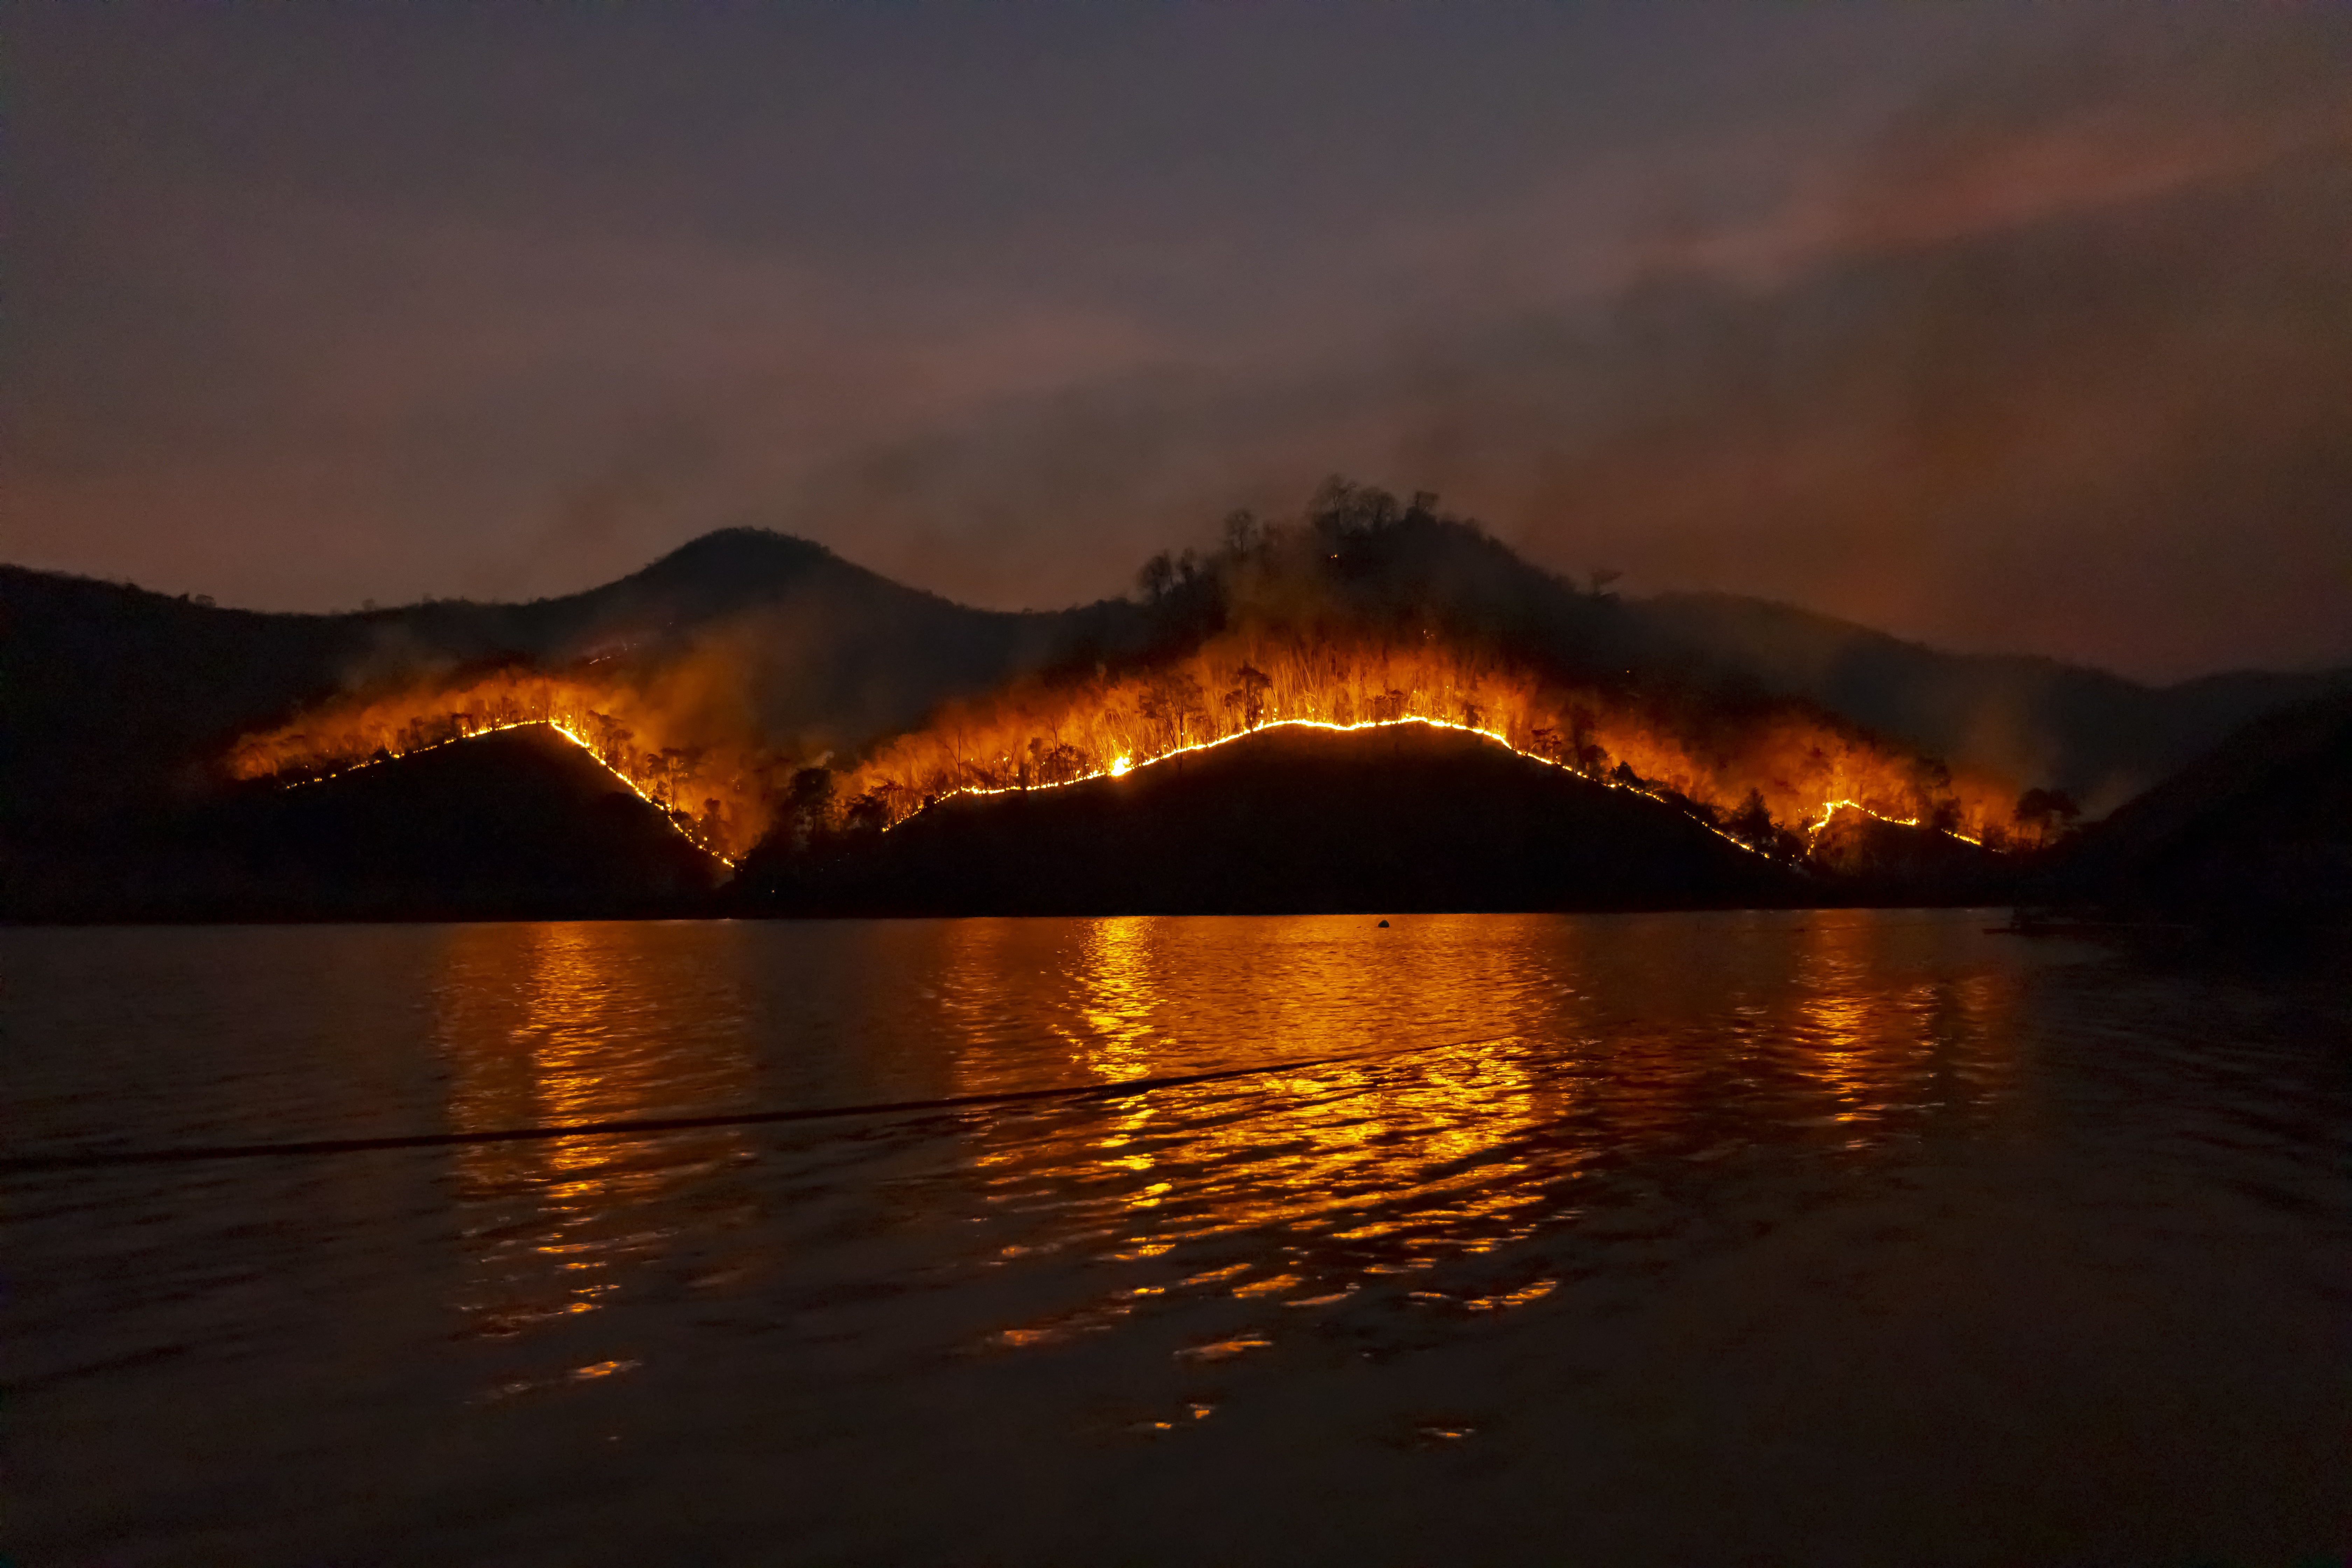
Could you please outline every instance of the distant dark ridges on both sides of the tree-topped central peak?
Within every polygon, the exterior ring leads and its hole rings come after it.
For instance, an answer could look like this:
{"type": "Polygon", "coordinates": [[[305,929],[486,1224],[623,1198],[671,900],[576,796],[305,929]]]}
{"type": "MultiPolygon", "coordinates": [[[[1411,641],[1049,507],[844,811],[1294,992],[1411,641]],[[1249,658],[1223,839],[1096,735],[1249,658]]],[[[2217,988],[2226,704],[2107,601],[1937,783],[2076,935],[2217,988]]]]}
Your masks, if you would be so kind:
{"type": "MultiPolygon", "coordinates": [[[[1661,679],[1806,698],[1955,764],[2070,790],[2093,811],[2246,719],[2352,682],[2241,672],[2143,686],[2030,656],[1943,654],[1733,595],[1621,602],[1451,522],[1395,538],[1385,592],[1437,595],[1458,616],[1494,616],[1661,679]]],[[[710,703],[818,755],[854,752],[1025,672],[1136,656],[1164,635],[1150,602],[971,609],[762,529],[706,534],[576,595],[348,614],[216,609],[0,567],[0,846],[200,792],[242,731],[468,665],[722,661],[710,703]]]]}

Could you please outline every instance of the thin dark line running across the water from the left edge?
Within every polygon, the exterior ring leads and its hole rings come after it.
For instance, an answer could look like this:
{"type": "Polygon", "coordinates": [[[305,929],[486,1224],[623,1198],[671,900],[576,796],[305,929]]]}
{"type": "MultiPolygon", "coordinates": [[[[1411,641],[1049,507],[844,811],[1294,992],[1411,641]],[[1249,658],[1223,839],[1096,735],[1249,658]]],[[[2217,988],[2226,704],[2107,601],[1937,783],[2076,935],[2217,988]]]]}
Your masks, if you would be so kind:
{"type": "Polygon", "coordinates": [[[713,1126],[774,1126],[781,1121],[830,1121],[842,1117],[891,1117],[934,1110],[983,1110],[990,1105],[1028,1105],[1037,1100],[1127,1100],[1155,1088],[1185,1088],[1190,1084],[1221,1084],[1230,1079],[1263,1077],[1270,1072],[1305,1072],[1308,1067],[1345,1067],[1348,1063],[1374,1063],[1416,1051],[1451,1051],[1461,1046],[1489,1046],[1508,1034],[1484,1039],[1439,1039],[1423,1046],[1390,1046],[1385,1051],[1355,1051],[1348,1056],[1315,1056],[1291,1063],[1261,1063],[1256,1067],[1218,1067],[1216,1072],[1183,1072],[1157,1079],[1122,1079],[1117,1084],[1063,1084],[1056,1088],[1007,1088],[983,1095],[950,1095],[946,1100],[875,1100],[870,1105],[816,1105],[804,1110],[755,1110],[715,1117],[628,1117],[614,1121],[562,1121],[555,1126],[501,1126],[477,1133],[395,1133],[388,1138],[308,1138],[299,1143],[216,1143],[181,1145],[169,1150],[64,1150],[56,1154],[5,1154],[0,1175],[33,1171],[89,1171],[101,1166],[169,1166],[200,1159],[301,1159],[315,1154],[372,1154],[379,1150],[447,1150],[475,1143],[539,1143],[546,1138],[659,1138],[663,1133],[691,1133],[713,1126]]]}

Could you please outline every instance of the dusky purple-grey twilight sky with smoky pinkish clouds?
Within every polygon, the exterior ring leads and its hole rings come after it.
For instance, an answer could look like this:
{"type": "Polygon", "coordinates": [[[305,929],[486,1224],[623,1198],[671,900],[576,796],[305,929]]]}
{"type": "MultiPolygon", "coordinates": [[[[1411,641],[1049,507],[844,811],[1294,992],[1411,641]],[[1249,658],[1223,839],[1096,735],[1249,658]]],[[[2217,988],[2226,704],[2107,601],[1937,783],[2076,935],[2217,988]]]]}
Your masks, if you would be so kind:
{"type": "Polygon", "coordinates": [[[2352,7],[7,14],[0,559],[1063,604],[1327,473],[2143,677],[2352,661],[2352,7]]]}

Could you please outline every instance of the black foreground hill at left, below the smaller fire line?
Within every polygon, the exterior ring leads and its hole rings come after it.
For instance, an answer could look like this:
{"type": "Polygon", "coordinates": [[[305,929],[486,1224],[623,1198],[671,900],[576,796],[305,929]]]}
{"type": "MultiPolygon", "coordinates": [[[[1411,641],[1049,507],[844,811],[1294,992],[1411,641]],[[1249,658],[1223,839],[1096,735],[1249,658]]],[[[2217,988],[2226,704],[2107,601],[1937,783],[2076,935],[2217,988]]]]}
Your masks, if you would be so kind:
{"type": "Polygon", "coordinates": [[[75,856],[16,856],[14,919],[689,914],[724,865],[546,729],[294,790],[249,785],[75,856]]]}

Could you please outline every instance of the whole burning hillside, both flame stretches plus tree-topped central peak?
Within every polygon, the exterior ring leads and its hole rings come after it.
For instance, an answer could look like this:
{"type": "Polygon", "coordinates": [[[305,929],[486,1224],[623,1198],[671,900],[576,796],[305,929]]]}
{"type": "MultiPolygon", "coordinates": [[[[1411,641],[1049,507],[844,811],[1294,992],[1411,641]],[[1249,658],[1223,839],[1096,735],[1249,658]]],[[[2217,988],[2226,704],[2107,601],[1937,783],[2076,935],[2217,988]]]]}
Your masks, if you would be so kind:
{"type": "MultiPolygon", "coordinates": [[[[2002,846],[2016,788],[1795,701],[1623,668],[1616,602],[1531,571],[1430,498],[1327,487],[1289,527],[1228,522],[1207,559],[1143,571],[1131,635],[941,705],[842,769],[760,733],[708,654],[661,665],[508,665],[329,703],[230,757],[240,778],[320,778],[541,724],[729,860],[771,827],[887,830],[957,795],[1122,776],[1277,726],[1472,731],[1585,780],[1663,799],[1750,849],[1799,856],[1839,811],[2002,846]],[[715,696],[717,689],[717,696],[715,696]]],[[[2030,837],[2030,832],[2027,832],[2030,837]]]]}

